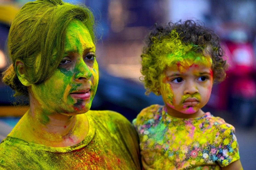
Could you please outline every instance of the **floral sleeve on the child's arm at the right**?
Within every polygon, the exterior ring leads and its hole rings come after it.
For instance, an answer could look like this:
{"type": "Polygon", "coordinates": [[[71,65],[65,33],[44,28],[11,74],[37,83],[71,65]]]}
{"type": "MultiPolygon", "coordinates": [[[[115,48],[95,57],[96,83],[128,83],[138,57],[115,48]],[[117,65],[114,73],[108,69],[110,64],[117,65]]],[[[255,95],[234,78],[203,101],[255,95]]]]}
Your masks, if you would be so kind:
{"type": "Polygon", "coordinates": [[[237,138],[235,136],[235,129],[233,126],[222,125],[221,128],[222,134],[219,135],[220,144],[218,147],[218,152],[216,154],[217,162],[220,166],[224,167],[229,165],[232,162],[240,159],[239,151],[238,151],[238,143],[237,138]]]}

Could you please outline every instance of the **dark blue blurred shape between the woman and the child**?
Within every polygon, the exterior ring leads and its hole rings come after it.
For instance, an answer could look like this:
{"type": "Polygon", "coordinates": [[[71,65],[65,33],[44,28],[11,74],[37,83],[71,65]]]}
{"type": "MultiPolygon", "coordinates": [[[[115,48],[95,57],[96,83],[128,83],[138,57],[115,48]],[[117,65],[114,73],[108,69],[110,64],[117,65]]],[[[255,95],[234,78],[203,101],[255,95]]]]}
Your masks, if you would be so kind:
{"type": "Polygon", "coordinates": [[[145,92],[142,84],[100,70],[99,85],[91,109],[116,111],[132,121],[143,108],[153,104],[164,105],[161,96],[153,93],[146,96],[145,92]]]}

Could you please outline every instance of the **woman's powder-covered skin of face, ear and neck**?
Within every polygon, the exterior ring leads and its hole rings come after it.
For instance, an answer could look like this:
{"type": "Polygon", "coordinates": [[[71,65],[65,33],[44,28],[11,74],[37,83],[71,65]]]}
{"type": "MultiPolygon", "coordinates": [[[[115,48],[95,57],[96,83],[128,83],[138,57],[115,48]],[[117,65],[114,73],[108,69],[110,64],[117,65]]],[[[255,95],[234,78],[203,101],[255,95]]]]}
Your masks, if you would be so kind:
{"type": "Polygon", "coordinates": [[[30,110],[17,124],[13,137],[51,147],[72,146],[84,139],[88,120],[83,113],[91,108],[98,85],[94,53],[88,29],[72,20],[66,28],[65,55],[49,79],[29,84],[22,61],[16,61],[19,80],[28,87],[30,110]]]}

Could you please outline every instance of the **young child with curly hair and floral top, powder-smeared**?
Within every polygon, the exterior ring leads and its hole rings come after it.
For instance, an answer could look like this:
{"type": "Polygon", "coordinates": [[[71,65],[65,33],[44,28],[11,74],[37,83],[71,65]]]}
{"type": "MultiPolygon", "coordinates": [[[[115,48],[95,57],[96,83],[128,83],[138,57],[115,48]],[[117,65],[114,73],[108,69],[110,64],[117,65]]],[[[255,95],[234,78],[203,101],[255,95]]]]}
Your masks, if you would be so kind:
{"type": "Polygon", "coordinates": [[[146,94],[165,106],[144,108],[133,124],[144,169],[241,170],[234,127],[201,108],[228,67],[218,36],[200,22],[155,25],[145,40],[141,73],[146,94]]]}

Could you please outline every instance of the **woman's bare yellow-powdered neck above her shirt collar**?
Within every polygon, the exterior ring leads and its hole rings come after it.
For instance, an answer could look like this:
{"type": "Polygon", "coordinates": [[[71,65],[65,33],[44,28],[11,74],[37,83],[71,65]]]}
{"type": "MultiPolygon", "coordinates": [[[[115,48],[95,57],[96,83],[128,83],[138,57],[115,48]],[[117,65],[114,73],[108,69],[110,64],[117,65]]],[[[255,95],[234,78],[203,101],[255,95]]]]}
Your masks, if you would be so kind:
{"type": "Polygon", "coordinates": [[[21,118],[10,135],[51,147],[72,146],[81,142],[87,135],[89,126],[85,115],[49,113],[30,106],[30,110],[21,118]]]}

